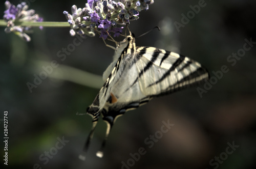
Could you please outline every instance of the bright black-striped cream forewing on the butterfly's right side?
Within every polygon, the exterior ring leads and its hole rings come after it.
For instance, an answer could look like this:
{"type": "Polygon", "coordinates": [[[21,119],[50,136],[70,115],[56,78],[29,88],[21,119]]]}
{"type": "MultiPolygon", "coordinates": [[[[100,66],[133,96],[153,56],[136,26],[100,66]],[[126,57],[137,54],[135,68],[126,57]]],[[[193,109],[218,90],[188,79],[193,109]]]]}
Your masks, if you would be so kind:
{"type": "Polygon", "coordinates": [[[183,55],[154,47],[137,47],[137,53],[144,53],[137,62],[141,93],[146,96],[169,94],[181,89],[198,85],[209,74],[196,61],[183,55]]]}

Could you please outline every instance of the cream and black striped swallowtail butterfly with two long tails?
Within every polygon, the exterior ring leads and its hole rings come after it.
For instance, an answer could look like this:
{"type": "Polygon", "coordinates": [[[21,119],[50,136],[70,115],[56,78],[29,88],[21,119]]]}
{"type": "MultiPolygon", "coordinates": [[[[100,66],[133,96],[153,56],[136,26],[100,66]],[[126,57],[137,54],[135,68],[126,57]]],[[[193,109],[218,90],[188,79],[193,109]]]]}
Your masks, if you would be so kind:
{"type": "MultiPolygon", "coordinates": [[[[103,73],[103,87],[87,108],[93,125],[84,145],[84,153],[89,148],[100,115],[107,124],[105,138],[96,153],[98,157],[103,156],[103,148],[114,122],[127,110],[136,109],[156,96],[198,85],[209,78],[208,71],[200,63],[181,54],[136,46],[131,32],[116,45],[116,48],[109,46],[115,49],[113,62],[103,73]]],[[[79,158],[85,160],[86,156],[81,154],[79,158]]]]}

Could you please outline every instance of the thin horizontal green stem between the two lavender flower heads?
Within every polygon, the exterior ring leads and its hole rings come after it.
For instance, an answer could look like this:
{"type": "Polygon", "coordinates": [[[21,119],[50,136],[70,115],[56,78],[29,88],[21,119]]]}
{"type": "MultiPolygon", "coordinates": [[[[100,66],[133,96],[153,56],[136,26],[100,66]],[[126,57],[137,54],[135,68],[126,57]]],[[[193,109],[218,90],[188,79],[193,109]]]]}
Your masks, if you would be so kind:
{"type": "MultiPolygon", "coordinates": [[[[44,26],[44,27],[70,27],[70,24],[68,22],[29,22],[29,21],[14,21],[14,24],[16,26],[44,26]]],[[[0,19],[0,26],[6,26],[7,23],[5,20],[0,19]]]]}

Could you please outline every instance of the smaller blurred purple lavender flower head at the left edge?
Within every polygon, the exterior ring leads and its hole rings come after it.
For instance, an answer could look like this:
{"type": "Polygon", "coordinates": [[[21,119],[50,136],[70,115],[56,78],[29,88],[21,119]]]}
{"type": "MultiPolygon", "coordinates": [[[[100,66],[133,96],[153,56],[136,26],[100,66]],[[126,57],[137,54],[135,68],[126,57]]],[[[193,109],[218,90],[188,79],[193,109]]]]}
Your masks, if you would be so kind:
{"type": "MultiPolygon", "coordinates": [[[[5,29],[6,33],[14,32],[19,37],[25,41],[30,41],[30,37],[26,33],[32,32],[31,26],[15,26],[15,21],[33,21],[33,22],[42,22],[44,19],[39,17],[38,14],[35,14],[35,10],[28,10],[28,5],[26,3],[20,3],[15,7],[9,1],[5,2],[5,14],[4,20],[7,22],[7,27],[5,29]]],[[[39,27],[42,30],[42,26],[39,27]]]]}

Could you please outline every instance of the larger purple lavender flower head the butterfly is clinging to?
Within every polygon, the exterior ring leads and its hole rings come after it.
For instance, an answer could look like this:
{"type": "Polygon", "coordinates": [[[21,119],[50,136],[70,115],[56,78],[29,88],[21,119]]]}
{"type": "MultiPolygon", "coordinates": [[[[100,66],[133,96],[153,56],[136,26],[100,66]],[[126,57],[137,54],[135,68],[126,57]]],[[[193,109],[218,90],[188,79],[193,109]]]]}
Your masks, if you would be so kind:
{"type": "Polygon", "coordinates": [[[141,10],[147,10],[153,0],[88,0],[83,9],[73,5],[72,14],[64,11],[71,25],[70,35],[81,37],[100,35],[100,38],[108,38],[111,33],[118,37],[123,27],[117,24],[130,24],[130,21],[139,18],[141,10]]]}

